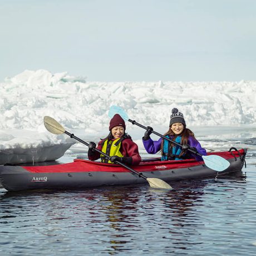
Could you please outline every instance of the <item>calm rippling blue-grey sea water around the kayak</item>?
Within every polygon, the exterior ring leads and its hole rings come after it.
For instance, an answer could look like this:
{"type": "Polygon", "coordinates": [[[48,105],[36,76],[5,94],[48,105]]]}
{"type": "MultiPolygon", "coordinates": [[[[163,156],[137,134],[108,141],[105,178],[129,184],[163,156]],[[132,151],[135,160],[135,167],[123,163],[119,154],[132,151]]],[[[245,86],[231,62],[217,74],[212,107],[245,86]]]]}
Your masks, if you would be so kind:
{"type": "Polygon", "coordinates": [[[213,150],[249,147],[242,176],[179,181],[171,191],[147,184],[33,193],[0,188],[0,254],[255,255],[256,140],[252,131],[240,134],[201,139],[213,150]]]}

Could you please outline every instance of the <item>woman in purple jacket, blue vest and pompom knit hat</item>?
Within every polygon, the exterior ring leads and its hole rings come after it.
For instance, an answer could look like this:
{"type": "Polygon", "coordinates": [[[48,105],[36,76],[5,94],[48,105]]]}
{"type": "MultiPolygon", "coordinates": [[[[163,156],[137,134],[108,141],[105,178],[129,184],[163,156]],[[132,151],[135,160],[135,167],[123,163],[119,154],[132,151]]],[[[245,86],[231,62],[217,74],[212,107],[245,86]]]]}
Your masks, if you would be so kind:
{"type": "MultiPolygon", "coordinates": [[[[206,150],[201,147],[198,140],[195,139],[194,133],[186,128],[186,122],[184,116],[178,109],[173,109],[171,111],[171,120],[170,120],[170,128],[166,134],[166,137],[169,139],[178,142],[181,145],[189,145],[195,152],[200,153],[201,155],[206,155],[206,150]]],[[[196,154],[191,153],[186,150],[183,151],[182,148],[178,145],[171,143],[168,140],[160,138],[157,141],[153,141],[150,138],[150,134],[152,132],[152,127],[147,126],[144,137],[142,137],[142,141],[146,151],[149,154],[156,154],[159,150],[161,150],[161,160],[184,160],[195,158],[197,161],[202,161],[202,157],[196,154]]]]}

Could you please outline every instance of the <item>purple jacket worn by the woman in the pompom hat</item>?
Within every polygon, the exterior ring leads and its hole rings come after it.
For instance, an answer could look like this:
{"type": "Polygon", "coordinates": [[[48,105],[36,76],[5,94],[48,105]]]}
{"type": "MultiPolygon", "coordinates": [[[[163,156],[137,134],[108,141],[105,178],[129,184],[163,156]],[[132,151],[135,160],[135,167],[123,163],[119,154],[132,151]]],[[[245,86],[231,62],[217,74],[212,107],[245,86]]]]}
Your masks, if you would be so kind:
{"type": "MultiPolygon", "coordinates": [[[[149,153],[149,154],[156,154],[156,152],[158,152],[161,149],[161,143],[162,143],[162,138],[160,138],[159,140],[155,140],[153,141],[151,138],[149,138],[148,140],[143,140],[143,145],[145,147],[145,150],[149,153]]],[[[191,147],[195,147],[196,150],[199,152],[199,154],[201,155],[206,155],[206,150],[201,147],[201,144],[194,139],[194,137],[189,136],[188,139],[188,144],[191,147]]],[[[199,155],[195,155],[191,152],[187,152],[189,158],[195,158],[196,161],[202,161],[202,157],[199,155]]]]}

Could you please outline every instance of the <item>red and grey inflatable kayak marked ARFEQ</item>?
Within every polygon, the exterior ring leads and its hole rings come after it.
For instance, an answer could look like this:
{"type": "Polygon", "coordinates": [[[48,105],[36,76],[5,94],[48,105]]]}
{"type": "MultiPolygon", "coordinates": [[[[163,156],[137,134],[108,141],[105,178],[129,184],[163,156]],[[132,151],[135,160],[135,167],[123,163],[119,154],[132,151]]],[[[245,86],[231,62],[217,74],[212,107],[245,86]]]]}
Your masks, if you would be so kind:
{"type": "MultiPolygon", "coordinates": [[[[221,176],[241,171],[247,149],[230,149],[208,155],[219,155],[227,159],[230,166],[224,171],[214,171],[203,161],[187,159],[182,161],[143,160],[132,169],[147,178],[159,178],[166,182],[221,176]]],[[[75,159],[73,163],[40,166],[0,166],[0,181],[9,191],[27,189],[81,189],[102,185],[126,185],[146,183],[145,179],[116,164],[75,159]]]]}

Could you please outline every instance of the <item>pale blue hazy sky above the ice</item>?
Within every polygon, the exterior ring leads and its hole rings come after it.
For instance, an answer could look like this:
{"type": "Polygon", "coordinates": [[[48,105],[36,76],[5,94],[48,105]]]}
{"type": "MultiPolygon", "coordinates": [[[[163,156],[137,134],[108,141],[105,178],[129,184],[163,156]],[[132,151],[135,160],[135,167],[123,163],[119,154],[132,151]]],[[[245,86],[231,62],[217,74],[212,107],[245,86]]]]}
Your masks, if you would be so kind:
{"type": "Polygon", "coordinates": [[[0,0],[0,82],[256,80],[254,0],[0,0]]]}

